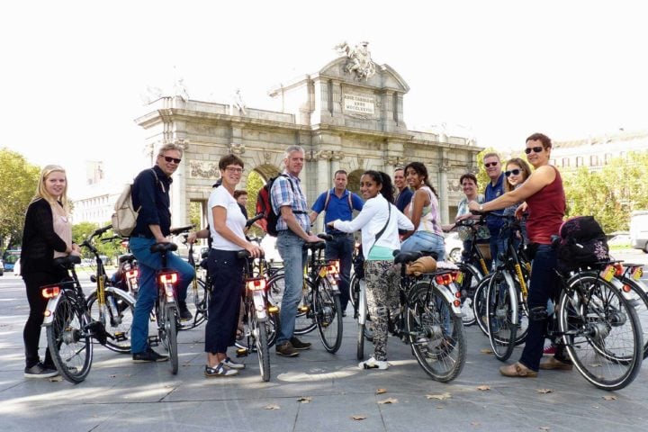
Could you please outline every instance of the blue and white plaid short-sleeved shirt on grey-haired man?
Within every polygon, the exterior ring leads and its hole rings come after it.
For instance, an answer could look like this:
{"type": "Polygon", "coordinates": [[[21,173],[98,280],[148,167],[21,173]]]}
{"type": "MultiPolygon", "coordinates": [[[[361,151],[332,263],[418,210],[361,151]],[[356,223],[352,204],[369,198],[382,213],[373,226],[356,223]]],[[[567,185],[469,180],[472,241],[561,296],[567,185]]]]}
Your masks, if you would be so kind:
{"type": "Polygon", "coordinates": [[[281,216],[281,208],[290,205],[297,221],[302,225],[305,232],[311,231],[311,219],[308,216],[308,205],[306,204],[306,195],[302,192],[302,181],[299,177],[290,175],[284,171],[284,175],[279,175],[275,183],[273,183],[272,190],[272,204],[273,210],[279,215],[277,219],[277,231],[284,231],[288,228],[288,224],[281,216]],[[291,185],[292,184],[292,185],[291,185]],[[294,191],[294,192],[293,192],[294,191]]]}

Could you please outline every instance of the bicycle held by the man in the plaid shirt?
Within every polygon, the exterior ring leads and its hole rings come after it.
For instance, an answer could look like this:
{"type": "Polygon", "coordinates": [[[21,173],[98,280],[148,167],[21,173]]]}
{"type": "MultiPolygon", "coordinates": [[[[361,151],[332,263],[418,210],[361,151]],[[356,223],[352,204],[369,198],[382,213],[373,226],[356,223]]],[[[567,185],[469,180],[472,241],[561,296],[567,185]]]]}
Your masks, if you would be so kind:
{"type": "MultiPolygon", "coordinates": [[[[319,238],[330,236],[318,234],[319,238]]],[[[320,340],[329,353],[334,354],[342,344],[342,306],[339,300],[339,263],[322,258],[326,244],[323,241],[305,243],[311,251],[303,280],[302,300],[297,308],[295,335],[318,329],[320,340]]],[[[284,293],[284,274],[274,275],[268,281],[270,301],[278,306],[284,293]]]]}

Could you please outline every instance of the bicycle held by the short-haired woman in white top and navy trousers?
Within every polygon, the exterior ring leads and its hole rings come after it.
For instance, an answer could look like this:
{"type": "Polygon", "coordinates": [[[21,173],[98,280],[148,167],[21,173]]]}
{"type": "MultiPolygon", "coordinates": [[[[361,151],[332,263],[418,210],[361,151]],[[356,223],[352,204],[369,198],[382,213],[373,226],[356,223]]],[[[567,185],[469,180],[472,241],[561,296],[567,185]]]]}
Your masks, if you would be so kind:
{"type": "Polygon", "coordinates": [[[269,348],[275,345],[279,321],[279,308],[268,302],[268,284],[264,275],[263,258],[259,259],[258,271],[254,274],[254,258],[247,250],[238,252],[239,259],[246,259],[245,291],[243,298],[243,338],[237,340],[237,356],[257,352],[261,379],[270,381],[269,348]]]}

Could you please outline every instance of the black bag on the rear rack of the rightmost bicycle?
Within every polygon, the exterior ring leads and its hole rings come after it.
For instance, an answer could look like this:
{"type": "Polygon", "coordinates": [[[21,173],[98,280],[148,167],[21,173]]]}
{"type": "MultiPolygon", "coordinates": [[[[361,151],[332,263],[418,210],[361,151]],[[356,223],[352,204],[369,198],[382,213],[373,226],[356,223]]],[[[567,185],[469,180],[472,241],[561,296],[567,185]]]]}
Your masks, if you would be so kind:
{"type": "Polygon", "coordinates": [[[609,260],[608,240],[593,216],[565,220],[559,232],[558,270],[563,273],[609,260]]]}

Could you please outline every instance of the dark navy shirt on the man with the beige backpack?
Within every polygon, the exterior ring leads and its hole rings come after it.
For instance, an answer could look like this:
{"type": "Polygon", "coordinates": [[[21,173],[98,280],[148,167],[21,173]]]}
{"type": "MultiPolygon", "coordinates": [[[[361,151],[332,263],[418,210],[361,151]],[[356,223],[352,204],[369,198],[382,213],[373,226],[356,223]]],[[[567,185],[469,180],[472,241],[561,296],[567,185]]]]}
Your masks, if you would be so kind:
{"type": "Polygon", "coordinates": [[[173,182],[171,177],[166,176],[157,165],[145,169],[135,177],[130,196],[133,208],[135,210],[139,208],[139,213],[137,225],[130,233],[130,237],[140,235],[154,238],[148,225],[159,225],[165,237],[171,234],[171,211],[169,211],[171,200],[168,192],[171,182],[173,182]]]}

